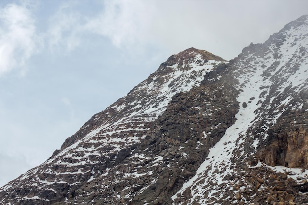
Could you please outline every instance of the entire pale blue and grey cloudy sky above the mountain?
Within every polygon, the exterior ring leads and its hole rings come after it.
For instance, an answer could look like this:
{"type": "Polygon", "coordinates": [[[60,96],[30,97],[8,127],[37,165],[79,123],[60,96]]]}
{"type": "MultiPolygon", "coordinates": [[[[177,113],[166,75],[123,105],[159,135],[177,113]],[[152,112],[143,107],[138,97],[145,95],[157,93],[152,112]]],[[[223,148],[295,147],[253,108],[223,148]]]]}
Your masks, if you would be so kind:
{"type": "Polygon", "coordinates": [[[230,60],[304,14],[306,0],[1,0],[0,186],[171,55],[230,60]]]}

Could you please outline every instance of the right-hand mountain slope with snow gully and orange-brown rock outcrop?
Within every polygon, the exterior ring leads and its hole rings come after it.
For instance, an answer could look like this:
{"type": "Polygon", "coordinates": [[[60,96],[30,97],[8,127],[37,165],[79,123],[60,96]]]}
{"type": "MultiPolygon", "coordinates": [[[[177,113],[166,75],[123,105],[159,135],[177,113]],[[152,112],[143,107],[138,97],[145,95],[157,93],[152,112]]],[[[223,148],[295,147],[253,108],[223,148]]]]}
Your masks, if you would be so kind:
{"type": "Polygon", "coordinates": [[[172,197],[175,204],[308,203],[298,192],[307,192],[306,48],[303,16],[226,65],[238,81],[237,120],[172,197]]]}

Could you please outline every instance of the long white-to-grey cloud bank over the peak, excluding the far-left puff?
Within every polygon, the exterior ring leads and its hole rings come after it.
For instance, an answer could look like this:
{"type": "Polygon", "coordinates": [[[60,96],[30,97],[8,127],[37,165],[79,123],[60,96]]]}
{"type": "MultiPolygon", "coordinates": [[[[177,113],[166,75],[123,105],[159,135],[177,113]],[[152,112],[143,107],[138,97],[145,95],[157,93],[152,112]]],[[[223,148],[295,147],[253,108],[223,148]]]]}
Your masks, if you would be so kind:
{"type": "Polygon", "coordinates": [[[104,0],[92,1],[94,11],[83,13],[81,1],[66,1],[51,18],[50,45],[72,51],[97,35],[130,54],[148,47],[171,54],[196,47],[232,59],[304,14],[308,3],[296,2],[303,6],[281,0],[104,0]]]}

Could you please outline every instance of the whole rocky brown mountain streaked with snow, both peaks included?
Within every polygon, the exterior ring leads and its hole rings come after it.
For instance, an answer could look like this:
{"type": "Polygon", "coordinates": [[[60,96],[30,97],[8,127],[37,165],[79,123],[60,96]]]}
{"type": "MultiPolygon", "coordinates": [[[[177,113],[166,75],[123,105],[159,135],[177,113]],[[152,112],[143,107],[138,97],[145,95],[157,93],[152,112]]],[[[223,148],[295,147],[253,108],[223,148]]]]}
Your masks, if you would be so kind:
{"type": "Polygon", "coordinates": [[[308,203],[308,15],[229,62],[171,56],[1,205],[308,203]]]}

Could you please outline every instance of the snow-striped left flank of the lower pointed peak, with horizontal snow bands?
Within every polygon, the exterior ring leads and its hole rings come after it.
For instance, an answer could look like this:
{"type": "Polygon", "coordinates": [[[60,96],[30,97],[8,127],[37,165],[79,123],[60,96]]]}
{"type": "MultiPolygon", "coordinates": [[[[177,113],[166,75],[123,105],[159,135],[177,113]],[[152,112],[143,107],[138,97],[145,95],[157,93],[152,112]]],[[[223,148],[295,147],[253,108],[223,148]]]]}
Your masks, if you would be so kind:
{"type": "MultiPolygon", "coordinates": [[[[57,193],[55,196],[53,190],[65,185],[60,189],[63,189],[67,196],[77,189],[80,181],[91,183],[96,180],[95,176],[103,177],[109,169],[133,154],[132,150],[136,149],[140,140],[145,137],[147,127],[165,110],[172,96],[198,86],[204,74],[213,69],[214,65],[221,63],[212,60],[214,58],[217,57],[208,52],[200,53],[197,49],[187,49],[174,55],[127,96],[94,115],[75,135],[63,143],[61,150],[55,151],[53,156],[40,166],[42,171],[36,168],[19,177],[28,184],[31,181],[25,180],[26,178],[35,178],[35,184],[39,182],[39,186],[45,187],[44,189],[47,186],[48,190],[51,190],[39,195],[41,197],[34,203],[48,204],[50,196],[54,201],[58,200],[57,197],[62,199],[63,193],[57,193]],[[183,54],[189,58],[183,59],[183,54]],[[211,59],[202,58],[206,55],[211,59]],[[76,178],[79,181],[77,184],[76,178]]],[[[160,156],[158,159],[162,160],[160,156]]],[[[32,191],[36,192],[33,188],[32,191]]],[[[25,194],[26,196],[22,195],[19,200],[27,200],[27,196],[32,196],[25,194]]],[[[109,192],[106,195],[109,195],[109,192]]]]}

